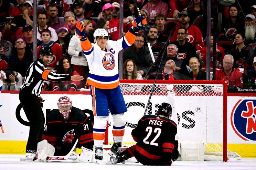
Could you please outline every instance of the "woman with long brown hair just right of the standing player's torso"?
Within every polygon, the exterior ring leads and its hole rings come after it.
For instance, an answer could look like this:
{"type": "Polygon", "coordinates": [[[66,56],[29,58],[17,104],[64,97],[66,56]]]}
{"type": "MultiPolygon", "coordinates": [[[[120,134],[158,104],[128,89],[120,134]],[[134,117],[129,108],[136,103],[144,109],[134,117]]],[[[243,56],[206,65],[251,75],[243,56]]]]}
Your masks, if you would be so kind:
{"type": "Polygon", "coordinates": [[[128,59],[124,62],[123,74],[124,74],[123,79],[142,80],[141,74],[137,73],[136,63],[131,59],[128,59]]]}

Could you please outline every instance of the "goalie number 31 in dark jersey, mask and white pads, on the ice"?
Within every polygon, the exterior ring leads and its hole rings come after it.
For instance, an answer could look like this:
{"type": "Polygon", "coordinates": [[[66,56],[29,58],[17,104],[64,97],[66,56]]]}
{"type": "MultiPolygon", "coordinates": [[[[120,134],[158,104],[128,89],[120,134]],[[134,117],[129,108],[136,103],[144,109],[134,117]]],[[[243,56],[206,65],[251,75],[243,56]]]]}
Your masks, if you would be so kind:
{"type": "MultiPolygon", "coordinates": [[[[40,148],[39,145],[46,146],[42,144],[46,139],[48,146],[44,149],[51,149],[52,145],[55,152],[47,155],[38,151],[41,154],[38,154],[38,159],[45,160],[47,156],[67,155],[74,146],[76,139],[79,138],[76,147],[82,148],[82,153],[78,155],[72,153],[70,159],[75,162],[88,162],[93,155],[93,123],[81,109],[72,106],[72,101],[66,96],[58,99],[57,106],[58,109],[52,110],[47,115],[42,136],[43,141],[38,143],[38,148],[40,148]],[[50,147],[49,144],[51,144],[50,147]]],[[[49,153],[49,150],[47,152],[49,153]]]]}

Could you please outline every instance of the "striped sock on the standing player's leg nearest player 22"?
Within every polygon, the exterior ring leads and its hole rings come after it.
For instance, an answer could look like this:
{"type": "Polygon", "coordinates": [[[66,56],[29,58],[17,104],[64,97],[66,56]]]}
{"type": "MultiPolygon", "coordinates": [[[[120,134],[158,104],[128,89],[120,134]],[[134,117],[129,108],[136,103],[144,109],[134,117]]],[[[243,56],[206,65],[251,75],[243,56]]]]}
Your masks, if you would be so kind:
{"type": "Polygon", "coordinates": [[[115,143],[120,143],[123,141],[124,134],[125,134],[125,114],[113,114],[113,138],[115,143]]]}

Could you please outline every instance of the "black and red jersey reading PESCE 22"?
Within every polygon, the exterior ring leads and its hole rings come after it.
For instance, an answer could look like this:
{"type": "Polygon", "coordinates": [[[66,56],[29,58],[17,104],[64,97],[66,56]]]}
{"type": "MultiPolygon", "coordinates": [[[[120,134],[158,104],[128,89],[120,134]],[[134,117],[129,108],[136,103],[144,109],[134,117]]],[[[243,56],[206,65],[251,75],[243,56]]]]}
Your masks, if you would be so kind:
{"type": "MultiPolygon", "coordinates": [[[[152,160],[172,160],[177,125],[170,119],[147,115],[143,116],[131,135],[137,142],[136,150],[152,160]]],[[[135,155],[136,157],[136,155],[135,155]]]]}

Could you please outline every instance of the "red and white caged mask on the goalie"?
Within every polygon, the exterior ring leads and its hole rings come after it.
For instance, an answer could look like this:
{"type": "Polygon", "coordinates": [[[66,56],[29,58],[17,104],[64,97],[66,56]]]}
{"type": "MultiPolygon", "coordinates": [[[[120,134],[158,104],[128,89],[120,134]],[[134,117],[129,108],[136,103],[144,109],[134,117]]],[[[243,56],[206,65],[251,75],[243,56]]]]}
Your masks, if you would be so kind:
{"type": "Polygon", "coordinates": [[[72,109],[72,101],[70,98],[63,96],[58,99],[57,102],[58,110],[61,113],[61,116],[64,120],[68,120],[70,118],[70,113],[72,109]]]}

